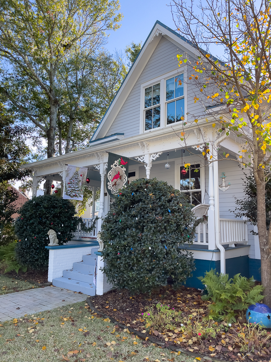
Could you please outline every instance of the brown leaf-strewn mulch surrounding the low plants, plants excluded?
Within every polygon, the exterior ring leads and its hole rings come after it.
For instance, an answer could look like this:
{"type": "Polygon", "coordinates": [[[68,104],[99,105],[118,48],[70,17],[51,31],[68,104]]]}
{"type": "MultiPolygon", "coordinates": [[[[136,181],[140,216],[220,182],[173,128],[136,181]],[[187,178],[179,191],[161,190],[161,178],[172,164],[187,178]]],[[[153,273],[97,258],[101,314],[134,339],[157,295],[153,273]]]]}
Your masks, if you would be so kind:
{"type": "MultiPolygon", "coordinates": [[[[166,330],[162,332],[155,331],[153,328],[145,327],[145,321],[142,319],[142,313],[148,307],[155,306],[158,302],[168,304],[175,311],[181,312],[181,317],[192,316],[192,321],[199,321],[205,325],[204,317],[208,315],[209,301],[201,299],[201,291],[194,288],[182,286],[178,290],[173,290],[171,286],[160,289],[159,294],[149,296],[147,294],[131,295],[128,290],[112,290],[104,295],[91,297],[90,300],[96,310],[105,313],[107,316],[114,318],[119,323],[125,324],[139,332],[152,335],[165,343],[165,347],[175,345],[195,354],[200,353],[205,356],[215,357],[226,361],[271,361],[271,341],[264,344],[261,351],[244,352],[241,344],[238,344],[233,336],[242,332],[241,328],[246,327],[245,319],[238,319],[239,323],[214,322],[213,328],[216,329],[215,337],[198,338],[193,334],[189,339],[180,331],[181,323],[176,323],[175,330],[166,330]],[[145,331],[145,332],[144,332],[145,331]]],[[[145,341],[142,341],[144,344],[145,341]]]]}

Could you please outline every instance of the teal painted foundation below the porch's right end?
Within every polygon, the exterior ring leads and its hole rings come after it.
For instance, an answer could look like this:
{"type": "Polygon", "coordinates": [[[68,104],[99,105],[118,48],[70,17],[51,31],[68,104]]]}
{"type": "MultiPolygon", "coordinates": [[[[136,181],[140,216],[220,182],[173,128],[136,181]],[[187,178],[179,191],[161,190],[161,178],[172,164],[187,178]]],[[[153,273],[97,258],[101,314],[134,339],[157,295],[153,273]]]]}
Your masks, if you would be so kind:
{"type": "MultiPolygon", "coordinates": [[[[232,278],[235,274],[238,273],[240,273],[242,277],[249,278],[250,260],[257,260],[257,259],[249,259],[248,255],[226,259],[226,273],[229,274],[229,278],[232,278]]],[[[186,280],[185,286],[189,288],[203,289],[204,286],[197,277],[201,276],[203,277],[206,271],[210,271],[211,269],[216,269],[216,271],[220,273],[220,260],[210,261],[210,260],[194,259],[194,261],[195,261],[196,270],[193,271],[193,277],[188,278],[186,280]]]]}

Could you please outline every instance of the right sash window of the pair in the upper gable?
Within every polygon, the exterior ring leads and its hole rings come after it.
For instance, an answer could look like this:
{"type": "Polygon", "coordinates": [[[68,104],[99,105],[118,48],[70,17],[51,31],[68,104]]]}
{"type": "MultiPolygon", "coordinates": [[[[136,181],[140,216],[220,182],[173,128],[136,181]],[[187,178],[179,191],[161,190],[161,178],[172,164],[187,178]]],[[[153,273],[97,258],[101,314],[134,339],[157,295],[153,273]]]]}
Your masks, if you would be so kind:
{"type": "Polygon", "coordinates": [[[180,74],[166,81],[167,125],[180,122],[184,117],[184,75],[180,74]],[[174,99],[174,101],[172,101],[174,99]]]}

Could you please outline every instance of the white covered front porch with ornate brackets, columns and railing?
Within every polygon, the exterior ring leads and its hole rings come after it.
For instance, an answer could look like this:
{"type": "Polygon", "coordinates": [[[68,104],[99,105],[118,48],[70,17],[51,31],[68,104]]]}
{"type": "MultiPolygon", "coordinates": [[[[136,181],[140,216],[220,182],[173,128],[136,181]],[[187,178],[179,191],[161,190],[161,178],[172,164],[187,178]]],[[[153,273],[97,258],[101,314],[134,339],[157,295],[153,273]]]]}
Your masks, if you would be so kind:
{"type": "MultiPolygon", "coordinates": [[[[231,268],[229,265],[233,263],[237,265],[237,272],[246,276],[248,258],[251,254],[250,245],[254,244],[254,238],[249,234],[246,220],[237,220],[231,213],[235,209],[234,197],[243,194],[242,181],[240,181],[242,171],[238,167],[238,162],[223,159],[218,154],[220,147],[225,152],[231,152],[232,158],[236,157],[240,146],[228,136],[218,136],[208,128],[202,129],[200,133],[193,130],[186,139],[186,145],[180,142],[180,135],[172,130],[168,130],[168,134],[165,133],[163,137],[152,136],[150,138],[150,136],[150,134],[141,135],[141,140],[139,136],[122,139],[120,135],[116,134],[115,139],[111,137],[109,140],[105,138],[90,142],[90,148],[85,150],[31,164],[34,173],[33,195],[36,195],[40,180],[49,179],[63,182],[65,187],[68,165],[88,169],[87,176],[90,181],[85,186],[92,190],[92,201],[95,200],[96,191],[100,189],[99,219],[95,228],[91,232],[83,232],[78,225],[73,240],[69,241],[66,247],[69,245],[73,245],[72,248],[75,248],[76,245],[83,247],[86,244],[89,244],[91,248],[98,246],[97,233],[101,230],[103,218],[112,202],[106,192],[106,172],[108,152],[113,152],[129,157],[128,182],[142,177],[156,177],[159,180],[167,181],[168,184],[186,194],[192,207],[196,206],[195,214],[198,217],[208,216],[206,222],[198,226],[193,244],[187,246],[194,253],[197,268],[194,275],[198,273],[203,275],[211,267],[226,273],[228,268],[231,268]],[[145,139],[142,140],[142,138],[145,139]],[[206,139],[212,140],[208,146],[210,154],[208,157],[203,157],[202,142],[206,142],[206,139]],[[188,174],[184,176],[181,171],[184,169],[185,163],[189,163],[190,167],[188,174]],[[198,168],[197,174],[193,171],[196,167],[198,168]],[[90,245],[90,243],[95,244],[90,245]],[[241,263],[238,261],[239,259],[235,260],[240,257],[246,261],[241,263]],[[229,260],[231,260],[230,264],[229,260]]],[[[83,216],[87,226],[93,221],[94,214],[95,202],[92,203],[90,214],[83,216]]],[[[97,251],[95,251],[96,253],[97,251]]],[[[82,260],[82,256],[80,257],[82,260]]],[[[69,253],[69,258],[73,258],[72,252],[69,253]]],[[[99,265],[102,267],[103,260],[99,252],[96,259],[96,262],[99,260],[99,265]]],[[[69,265],[72,265],[72,260],[69,265]]],[[[55,268],[55,265],[52,264],[52,268],[55,268]]],[[[96,292],[103,294],[108,288],[110,289],[110,286],[107,285],[106,277],[99,268],[96,268],[96,280],[100,281],[100,286],[99,283],[96,285],[96,292]]],[[[53,275],[53,273],[51,274],[53,275]]],[[[188,283],[194,283],[196,286],[197,281],[195,278],[192,279],[188,283]]]]}

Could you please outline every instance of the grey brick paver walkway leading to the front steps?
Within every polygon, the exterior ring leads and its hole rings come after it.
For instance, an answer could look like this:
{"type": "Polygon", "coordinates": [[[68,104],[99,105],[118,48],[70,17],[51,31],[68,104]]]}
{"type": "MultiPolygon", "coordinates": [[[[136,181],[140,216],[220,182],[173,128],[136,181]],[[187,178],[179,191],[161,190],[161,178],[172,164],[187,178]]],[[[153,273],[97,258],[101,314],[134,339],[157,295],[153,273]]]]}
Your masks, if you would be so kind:
{"type": "Polygon", "coordinates": [[[0,321],[81,302],[86,298],[86,294],[58,287],[36,288],[0,295],[0,321]]]}

